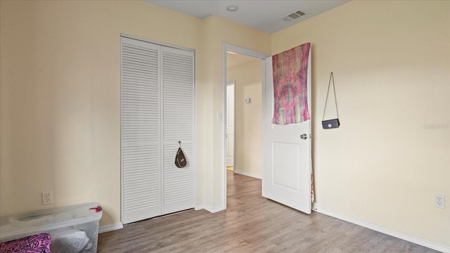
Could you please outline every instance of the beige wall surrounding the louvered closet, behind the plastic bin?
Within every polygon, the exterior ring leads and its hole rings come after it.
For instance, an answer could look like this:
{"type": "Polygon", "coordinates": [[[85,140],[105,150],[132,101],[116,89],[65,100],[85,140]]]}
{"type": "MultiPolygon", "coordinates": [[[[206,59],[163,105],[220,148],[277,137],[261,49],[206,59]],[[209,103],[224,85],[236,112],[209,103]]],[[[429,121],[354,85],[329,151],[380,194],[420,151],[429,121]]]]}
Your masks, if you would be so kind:
{"type": "Polygon", "coordinates": [[[269,34],[143,1],[0,3],[0,215],[95,201],[120,222],[121,33],[196,50],[197,205],[221,208],[222,43],[269,53],[269,34]]]}

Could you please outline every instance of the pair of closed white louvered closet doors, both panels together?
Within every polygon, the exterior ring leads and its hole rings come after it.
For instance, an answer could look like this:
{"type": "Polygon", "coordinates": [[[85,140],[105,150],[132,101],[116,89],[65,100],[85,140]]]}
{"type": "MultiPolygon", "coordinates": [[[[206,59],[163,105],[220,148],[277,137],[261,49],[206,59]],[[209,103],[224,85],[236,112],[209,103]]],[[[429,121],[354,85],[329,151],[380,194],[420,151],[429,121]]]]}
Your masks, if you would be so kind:
{"type": "Polygon", "coordinates": [[[193,208],[194,52],[122,37],[121,58],[122,223],[193,208]]]}

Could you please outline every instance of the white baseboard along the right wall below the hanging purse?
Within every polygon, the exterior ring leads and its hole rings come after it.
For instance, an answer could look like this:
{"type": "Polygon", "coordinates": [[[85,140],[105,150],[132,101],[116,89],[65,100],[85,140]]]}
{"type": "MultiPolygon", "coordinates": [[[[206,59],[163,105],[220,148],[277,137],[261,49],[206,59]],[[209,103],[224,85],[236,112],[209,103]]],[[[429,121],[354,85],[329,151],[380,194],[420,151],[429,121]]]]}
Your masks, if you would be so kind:
{"type": "Polygon", "coordinates": [[[450,247],[449,246],[440,245],[439,243],[436,243],[436,242],[430,242],[429,240],[424,240],[422,238],[418,238],[418,237],[413,236],[413,235],[408,235],[406,233],[395,231],[395,230],[393,230],[391,228],[385,228],[383,226],[380,226],[380,225],[377,225],[377,224],[374,224],[374,223],[370,223],[368,221],[362,221],[360,219],[355,219],[355,218],[352,218],[352,217],[349,217],[349,216],[345,216],[345,215],[342,215],[342,214],[337,214],[335,212],[330,212],[330,211],[328,211],[326,209],[321,209],[320,207],[317,207],[316,205],[314,206],[313,211],[319,212],[321,214],[325,214],[325,215],[328,215],[328,216],[332,216],[332,217],[340,219],[342,221],[348,221],[349,223],[354,223],[356,225],[363,226],[365,228],[370,228],[371,230],[378,231],[380,233],[385,233],[387,235],[392,235],[392,236],[394,236],[396,238],[400,238],[402,240],[413,242],[413,243],[416,243],[418,245],[422,245],[424,247],[428,247],[430,249],[435,249],[435,250],[437,250],[439,252],[450,253],[450,247]]]}

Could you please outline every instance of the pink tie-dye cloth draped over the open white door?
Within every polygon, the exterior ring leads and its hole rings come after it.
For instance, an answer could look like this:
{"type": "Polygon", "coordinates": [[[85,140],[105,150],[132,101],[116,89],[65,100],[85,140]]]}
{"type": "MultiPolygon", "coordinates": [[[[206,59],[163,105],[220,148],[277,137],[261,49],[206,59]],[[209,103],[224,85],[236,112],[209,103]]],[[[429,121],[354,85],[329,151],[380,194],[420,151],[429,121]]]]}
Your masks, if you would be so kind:
{"type": "Polygon", "coordinates": [[[309,119],[307,70],[310,46],[306,43],[272,56],[273,124],[293,124],[309,119]]]}

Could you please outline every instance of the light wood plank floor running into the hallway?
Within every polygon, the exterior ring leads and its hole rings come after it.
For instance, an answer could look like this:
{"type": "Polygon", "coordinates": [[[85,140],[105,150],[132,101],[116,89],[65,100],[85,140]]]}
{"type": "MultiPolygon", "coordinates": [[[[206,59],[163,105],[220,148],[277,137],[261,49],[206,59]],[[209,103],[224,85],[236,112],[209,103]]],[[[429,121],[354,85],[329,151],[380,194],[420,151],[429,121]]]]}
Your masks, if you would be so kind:
{"type": "Polygon", "coordinates": [[[188,210],[98,236],[98,252],[437,252],[261,197],[261,181],[227,171],[227,209],[188,210]]]}

